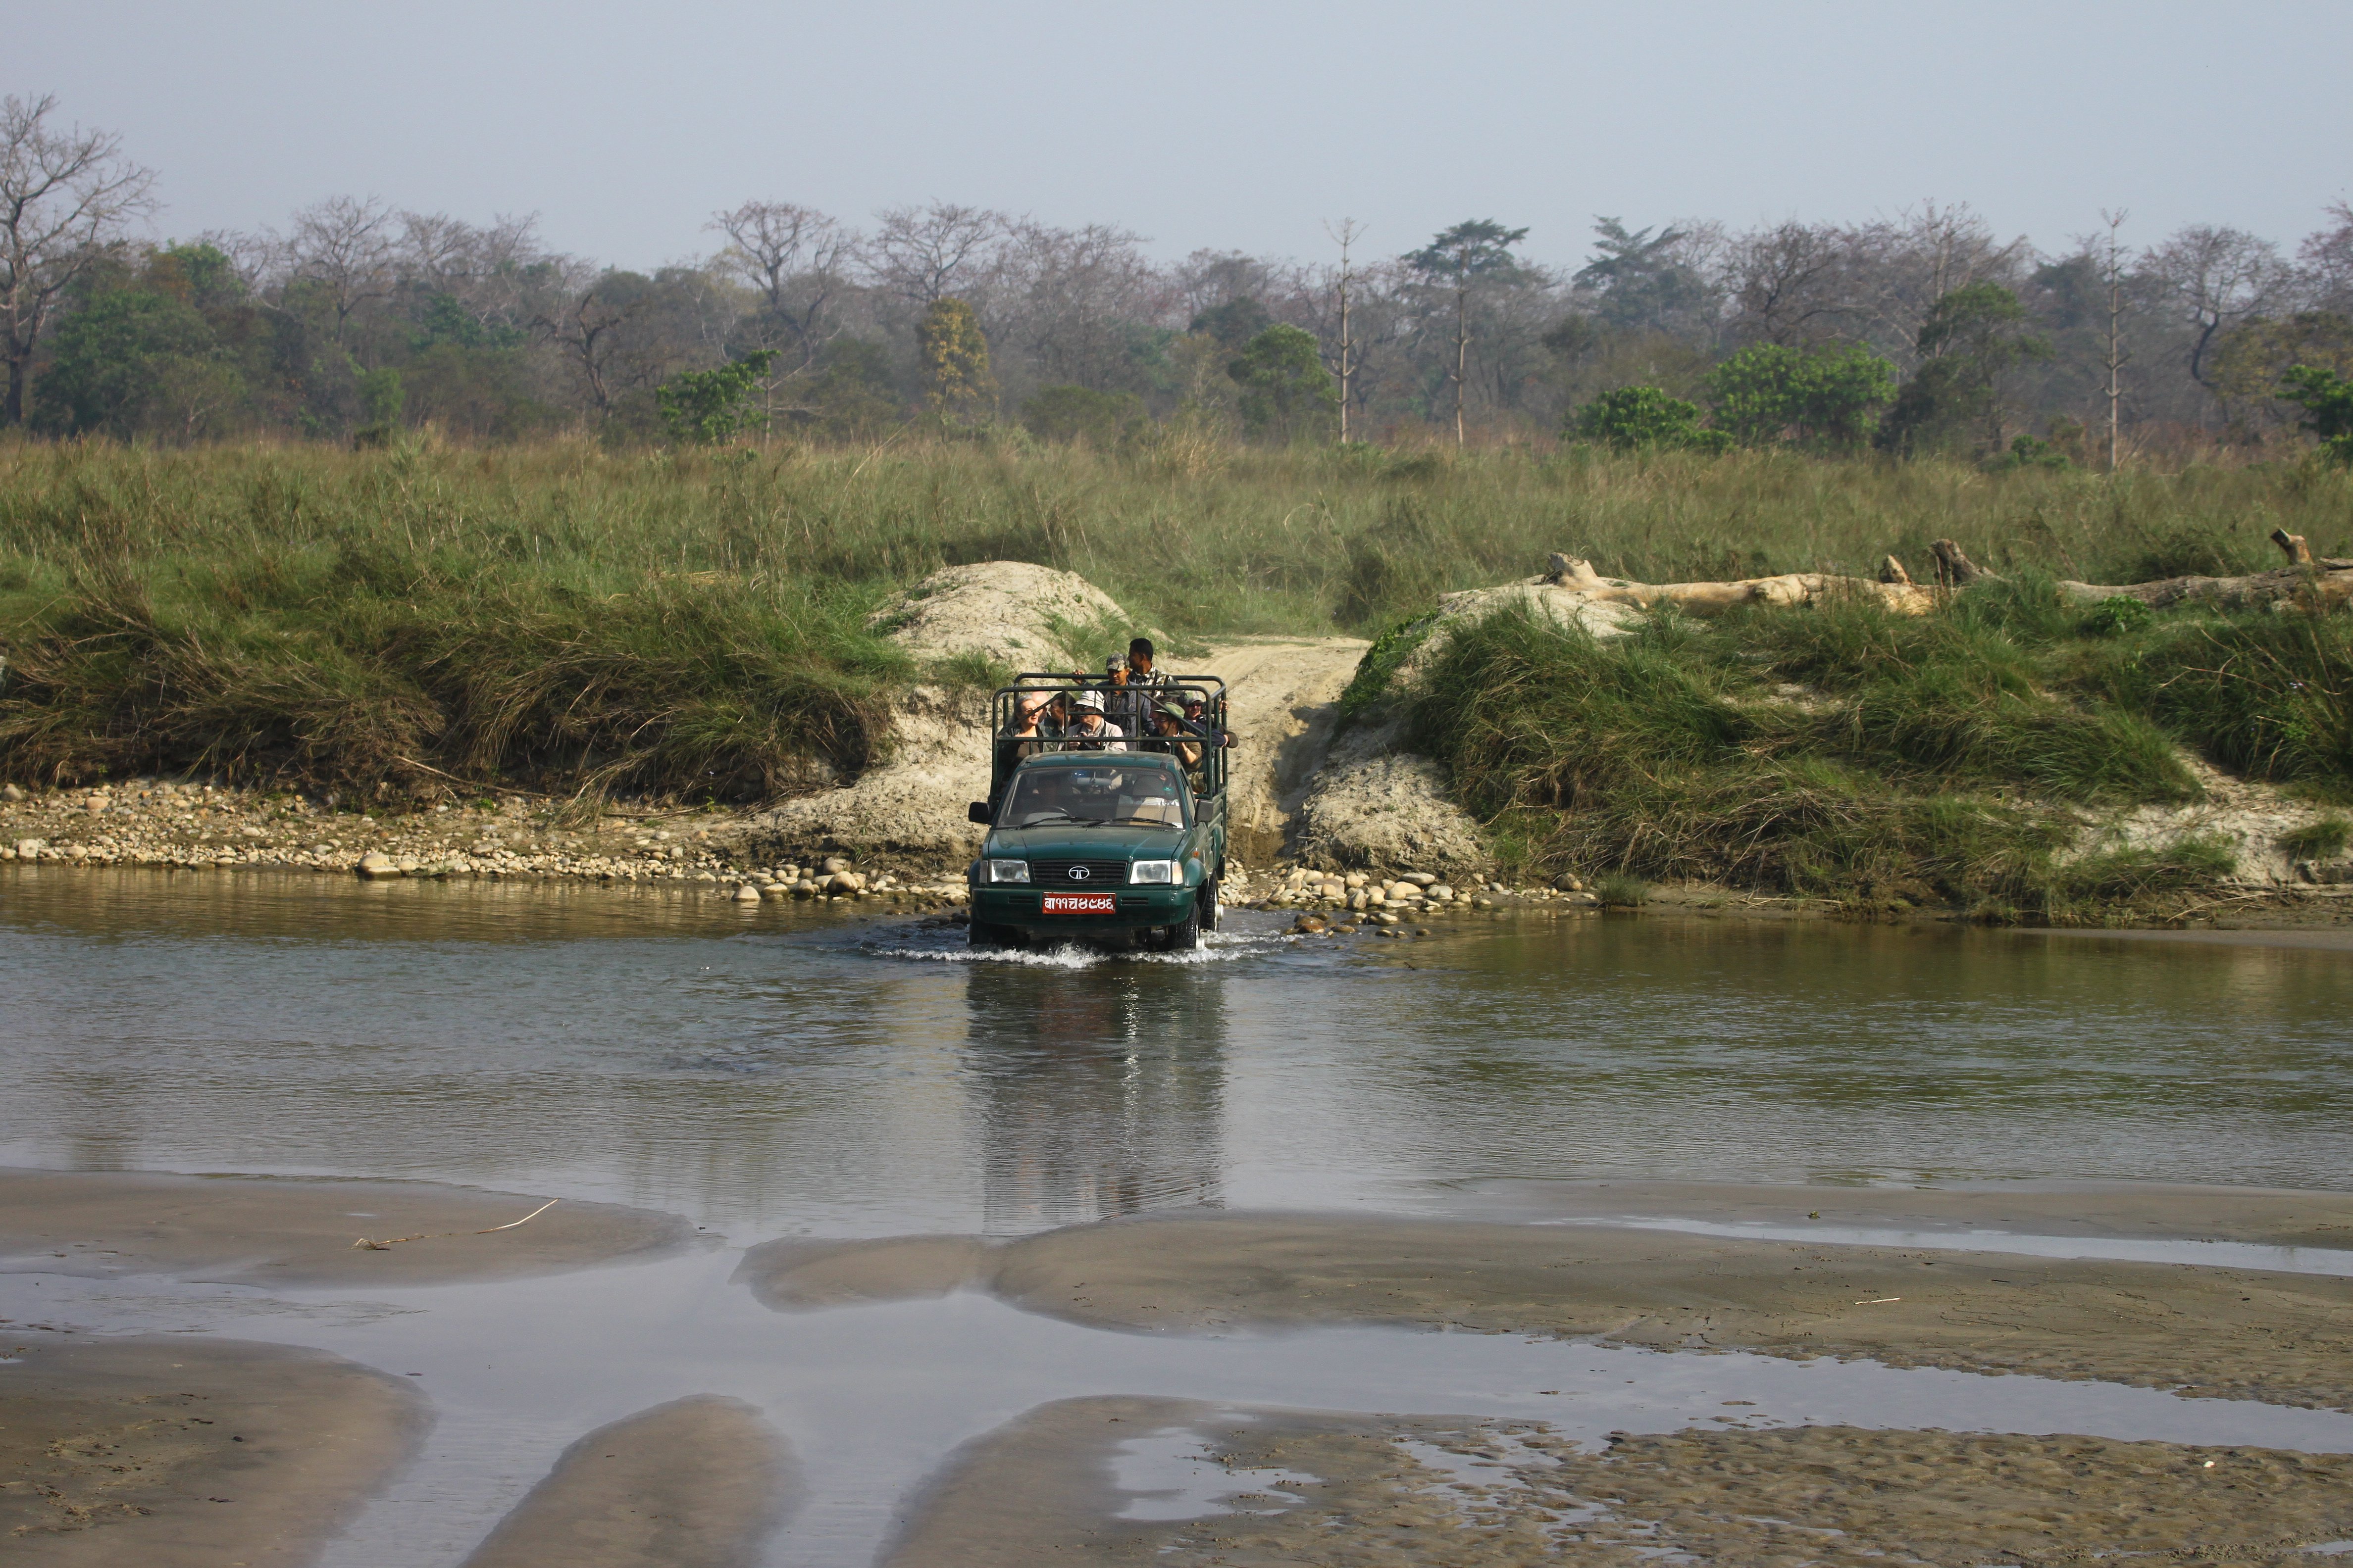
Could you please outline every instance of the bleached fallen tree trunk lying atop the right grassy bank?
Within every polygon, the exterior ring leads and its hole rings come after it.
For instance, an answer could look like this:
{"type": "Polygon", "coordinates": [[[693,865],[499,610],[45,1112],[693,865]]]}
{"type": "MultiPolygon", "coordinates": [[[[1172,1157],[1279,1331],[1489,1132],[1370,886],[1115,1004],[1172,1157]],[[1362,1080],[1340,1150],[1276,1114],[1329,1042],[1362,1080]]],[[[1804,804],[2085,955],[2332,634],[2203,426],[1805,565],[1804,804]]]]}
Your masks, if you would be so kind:
{"type": "MultiPolygon", "coordinates": [[[[2151,609],[2198,599],[2221,609],[2249,609],[2264,604],[2308,604],[2334,609],[2353,604],[2353,559],[2313,557],[2301,534],[2273,529],[2271,543],[2280,545],[2287,564],[2278,571],[2249,576],[2177,576],[2155,583],[2059,583],[2066,597],[2097,604],[2099,599],[2139,599],[2151,609]]],[[[1638,604],[1642,609],[1673,604],[1675,609],[1713,616],[1734,604],[1809,604],[1814,599],[1878,599],[1887,609],[1908,616],[1925,614],[1944,602],[1955,588],[1969,583],[1998,583],[2000,576],[1986,571],[1951,538],[1929,545],[1937,557],[1937,585],[1913,583],[1894,555],[1880,562],[1880,578],[1833,576],[1828,571],[1788,571],[1784,576],[1737,578],[1725,583],[1633,583],[1609,578],[1574,555],[1553,552],[1539,583],[1567,588],[1607,604],[1638,604]]]]}

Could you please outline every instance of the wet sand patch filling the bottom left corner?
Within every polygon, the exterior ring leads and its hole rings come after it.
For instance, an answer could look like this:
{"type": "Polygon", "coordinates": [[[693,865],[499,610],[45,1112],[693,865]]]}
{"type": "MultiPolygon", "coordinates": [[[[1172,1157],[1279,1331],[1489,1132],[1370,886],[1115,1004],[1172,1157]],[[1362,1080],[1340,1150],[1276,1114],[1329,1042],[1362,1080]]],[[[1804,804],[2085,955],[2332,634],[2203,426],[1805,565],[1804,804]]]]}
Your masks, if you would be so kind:
{"type": "Polygon", "coordinates": [[[5,1349],[0,1542],[45,1568],[308,1563],[426,1427],[400,1378],[311,1349],[186,1335],[5,1349]]]}

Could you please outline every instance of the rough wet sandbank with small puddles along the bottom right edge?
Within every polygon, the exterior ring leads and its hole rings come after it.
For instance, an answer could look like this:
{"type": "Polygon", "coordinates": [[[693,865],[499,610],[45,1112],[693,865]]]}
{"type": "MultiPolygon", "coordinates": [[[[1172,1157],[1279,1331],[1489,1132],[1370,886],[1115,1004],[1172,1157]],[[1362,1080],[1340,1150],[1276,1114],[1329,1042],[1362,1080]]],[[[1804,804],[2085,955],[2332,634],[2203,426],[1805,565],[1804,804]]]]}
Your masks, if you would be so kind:
{"type": "MultiPolygon", "coordinates": [[[[1169,1509],[1176,1512],[1176,1509],[1169,1509]]],[[[2308,1566],[2353,1535],[2353,1458],[2089,1436],[1798,1427],[1619,1436],[1447,1418],[1066,1399],[969,1443],[885,1568],[1932,1568],[2092,1556],[2308,1566]],[[1120,1519],[1122,1446],[1195,1446],[1224,1507],[1120,1519]],[[2212,1462],[2212,1465],[2209,1465],[2212,1462]],[[1682,1556],[1687,1554],[1687,1556],[1682,1556]]]]}

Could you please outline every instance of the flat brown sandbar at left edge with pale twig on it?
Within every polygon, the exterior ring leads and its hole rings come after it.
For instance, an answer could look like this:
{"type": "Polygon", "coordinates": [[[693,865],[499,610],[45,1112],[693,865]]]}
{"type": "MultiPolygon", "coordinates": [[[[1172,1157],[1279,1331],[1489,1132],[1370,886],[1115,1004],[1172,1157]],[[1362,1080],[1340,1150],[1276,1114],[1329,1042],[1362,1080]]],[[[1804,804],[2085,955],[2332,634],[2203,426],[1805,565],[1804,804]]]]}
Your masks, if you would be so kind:
{"type": "Polygon", "coordinates": [[[440,1182],[0,1171],[0,1269],[426,1286],[652,1258],[694,1234],[678,1215],[576,1201],[513,1225],[541,1204],[440,1182]]]}

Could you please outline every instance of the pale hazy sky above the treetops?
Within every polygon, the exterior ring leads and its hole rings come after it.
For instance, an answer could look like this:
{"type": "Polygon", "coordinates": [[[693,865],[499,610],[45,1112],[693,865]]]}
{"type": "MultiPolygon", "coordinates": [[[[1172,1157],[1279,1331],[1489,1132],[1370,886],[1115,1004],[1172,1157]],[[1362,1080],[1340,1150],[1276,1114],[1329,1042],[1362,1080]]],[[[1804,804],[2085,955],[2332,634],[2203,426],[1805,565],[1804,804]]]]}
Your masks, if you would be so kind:
{"type": "Polygon", "coordinates": [[[1322,256],[1353,214],[1374,252],[1494,216],[1579,261],[1593,214],[2292,242],[2353,193],[2348,0],[19,5],[0,89],[122,132],[172,235],[353,193],[652,266],[755,195],[941,197],[1162,256],[1322,256]]]}

